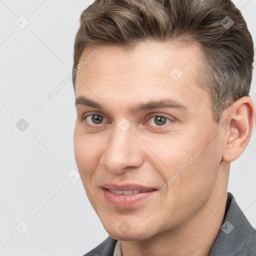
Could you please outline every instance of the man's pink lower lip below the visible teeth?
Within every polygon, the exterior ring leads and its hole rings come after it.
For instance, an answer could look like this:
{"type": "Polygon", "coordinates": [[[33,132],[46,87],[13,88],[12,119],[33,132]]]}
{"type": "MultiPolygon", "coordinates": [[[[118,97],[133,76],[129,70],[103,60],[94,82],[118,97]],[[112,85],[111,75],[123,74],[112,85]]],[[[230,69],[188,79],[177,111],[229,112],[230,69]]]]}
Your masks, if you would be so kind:
{"type": "Polygon", "coordinates": [[[117,207],[131,207],[143,200],[145,200],[151,193],[156,190],[145,191],[137,194],[115,194],[107,188],[103,187],[105,199],[110,204],[117,207]]]}

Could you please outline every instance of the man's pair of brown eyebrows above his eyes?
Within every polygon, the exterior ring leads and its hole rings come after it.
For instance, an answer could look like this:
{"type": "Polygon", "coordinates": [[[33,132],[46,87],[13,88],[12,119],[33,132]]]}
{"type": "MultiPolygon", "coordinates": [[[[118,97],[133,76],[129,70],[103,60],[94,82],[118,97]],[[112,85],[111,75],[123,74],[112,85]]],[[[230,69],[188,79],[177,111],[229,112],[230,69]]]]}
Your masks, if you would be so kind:
{"type": "MultiPolygon", "coordinates": [[[[98,109],[105,109],[100,103],[95,102],[89,98],[86,98],[84,96],[79,96],[75,99],[75,107],[78,105],[84,105],[84,106],[90,106],[90,107],[95,107],[98,109]]],[[[131,106],[128,111],[131,113],[136,113],[139,111],[144,111],[144,110],[151,110],[155,108],[160,108],[160,107],[168,107],[168,108],[178,108],[187,111],[188,108],[183,105],[181,102],[178,102],[176,100],[173,100],[171,98],[160,98],[157,100],[151,100],[146,103],[140,102],[137,105],[131,106]]]]}

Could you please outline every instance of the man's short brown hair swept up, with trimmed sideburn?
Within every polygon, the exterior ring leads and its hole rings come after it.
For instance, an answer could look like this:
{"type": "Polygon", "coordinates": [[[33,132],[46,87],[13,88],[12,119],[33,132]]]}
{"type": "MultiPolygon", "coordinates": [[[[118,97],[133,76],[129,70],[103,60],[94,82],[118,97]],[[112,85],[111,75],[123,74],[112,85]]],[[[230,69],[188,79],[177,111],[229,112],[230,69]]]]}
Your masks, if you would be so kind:
{"type": "Polygon", "coordinates": [[[233,101],[249,96],[253,42],[230,0],[95,0],[82,11],[75,36],[74,91],[77,64],[88,44],[129,50],[148,38],[201,46],[198,85],[210,93],[215,122],[233,101]]]}

